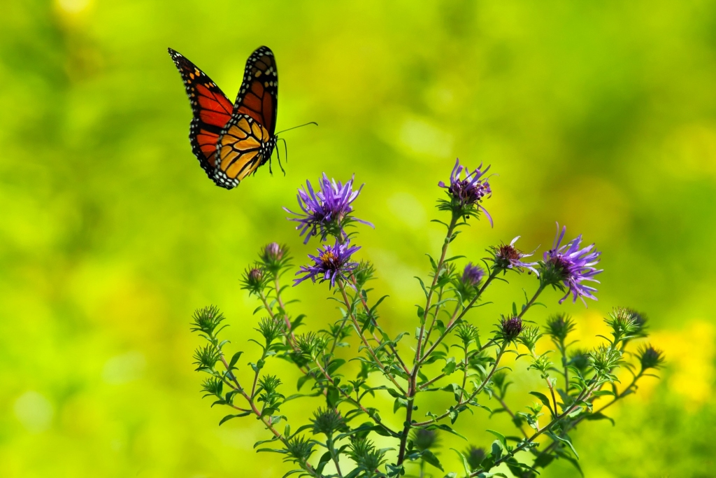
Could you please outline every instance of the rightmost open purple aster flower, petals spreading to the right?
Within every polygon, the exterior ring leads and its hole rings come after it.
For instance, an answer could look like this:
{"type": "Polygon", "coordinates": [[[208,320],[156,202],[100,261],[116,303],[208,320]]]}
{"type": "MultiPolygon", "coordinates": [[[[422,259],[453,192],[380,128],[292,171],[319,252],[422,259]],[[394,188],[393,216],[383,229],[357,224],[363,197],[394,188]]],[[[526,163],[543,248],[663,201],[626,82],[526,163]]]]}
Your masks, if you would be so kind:
{"type": "Polygon", "coordinates": [[[602,269],[596,269],[594,266],[599,263],[601,252],[597,252],[594,249],[594,244],[584,247],[584,249],[579,249],[582,240],[581,234],[560,246],[566,230],[567,228],[564,226],[560,232],[559,224],[557,224],[554,245],[552,249],[544,253],[544,267],[548,272],[546,279],[551,284],[562,282],[568,288],[566,295],[559,300],[560,304],[571,294],[574,296],[572,302],[576,302],[577,297],[579,297],[586,306],[584,297],[596,300],[596,297],[594,297],[596,289],[582,282],[591,281],[599,284],[599,281],[594,279],[594,276],[602,272],[602,269]]]}

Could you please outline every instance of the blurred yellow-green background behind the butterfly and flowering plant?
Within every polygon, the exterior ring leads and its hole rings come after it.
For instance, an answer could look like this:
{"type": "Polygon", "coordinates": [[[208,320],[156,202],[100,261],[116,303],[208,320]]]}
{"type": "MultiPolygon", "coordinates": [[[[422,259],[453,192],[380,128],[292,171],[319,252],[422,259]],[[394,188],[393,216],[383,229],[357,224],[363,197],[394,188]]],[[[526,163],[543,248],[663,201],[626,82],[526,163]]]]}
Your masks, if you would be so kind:
{"type": "MultiPolygon", "coordinates": [[[[313,251],[281,206],[306,178],[355,173],[357,215],[376,226],[359,256],[391,295],[382,320],[412,330],[412,276],[440,245],[427,221],[456,156],[499,174],[494,229],[476,224],[456,252],[480,259],[521,234],[541,254],[566,224],[605,272],[589,309],[551,292],[550,310],[587,336],[637,307],[667,353],[662,381],[611,411],[616,427],[576,433],[586,475],[716,476],[714,1],[4,0],[0,80],[0,476],[280,477],[251,449],[266,437],[255,421],[220,428],[201,400],[191,313],[220,306],[251,352],[243,268],[273,240],[313,251]],[[261,44],[281,74],[279,130],[320,126],[284,135],[285,177],[261,168],[225,191],[191,154],[166,48],[233,100],[261,44]]],[[[310,328],[335,320],[326,287],[289,295],[310,328]]],[[[495,287],[474,322],[489,330],[520,297],[495,287]]],[[[484,415],[465,424],[490,443],[484,415]]]]}

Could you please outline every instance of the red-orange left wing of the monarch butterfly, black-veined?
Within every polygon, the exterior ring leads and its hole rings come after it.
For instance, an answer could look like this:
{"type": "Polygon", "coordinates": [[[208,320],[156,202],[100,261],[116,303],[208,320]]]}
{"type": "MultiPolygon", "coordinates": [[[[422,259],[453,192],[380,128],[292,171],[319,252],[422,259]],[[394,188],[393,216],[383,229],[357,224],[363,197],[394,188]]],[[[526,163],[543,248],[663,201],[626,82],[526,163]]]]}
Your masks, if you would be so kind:
{"type": "Polygon", "coordinates": [[[189,128],[192,152],[207,176],[214,179],[216,143],[221,130],[231,120],[233,105],[208,75],[179,52],[168,50],[184,81],[194,114],[189,128]]]}

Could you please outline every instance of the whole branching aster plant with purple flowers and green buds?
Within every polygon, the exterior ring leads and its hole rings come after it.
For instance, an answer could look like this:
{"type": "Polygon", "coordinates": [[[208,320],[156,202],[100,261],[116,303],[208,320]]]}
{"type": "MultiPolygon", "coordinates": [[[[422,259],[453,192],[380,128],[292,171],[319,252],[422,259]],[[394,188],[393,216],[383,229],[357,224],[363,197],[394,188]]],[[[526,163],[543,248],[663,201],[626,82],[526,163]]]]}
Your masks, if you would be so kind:
{"type": "MultiPolygon", "coordinates": [[[[246,270],[242,286],[256,297],[257,332],[261,341],[258,358],[239,369],[242,352],[228,355],[227,341],[219,334],[224,317],[216,307],[197,310],[193,329],[205,340],[195,353],[196,370],[207,373],[205,396],[214,404],[231,409],[220,422],[253,416],[269,431],[259,441],[258,451],[281,454],[292,464],[286,474],[309,477],[398,477],[424,476],[426,467],[445,472],[439,455],[450,436],[465,440],[461,450],[451,448],[462,468],[448,477],[535,477],[538,469],[555,459],[564,459],[579,469],[571,434],[583,421],[609,419],[604,411],[637,390],[637,383],[662,365],[662,353],[644,343],[644,315],[628,308],[616,308],[606,317],[611,337],[593,350],[576,348],[570,340],[577,323],[557,313],[540,327],[529,322],[528,312],[548,287],[565,295],[596,300],[599,254],[594,244],[581,247],[581,236],[562,244],[566,228],[558,229],[552,249],[542,260],[531,261],[535,251],[509,244],[488,248],[482,266],[475,260],[463,266],[463,257],[449,257],[450,244],[461,228],[484,215],[483,206],[491,196],[489,178],[480,168],[470,172],[458,161],[437,209],[448,214],[445,240],[437,257],[430,259],[430,274],[417,278],[424,302],[417,306],[417,330],[410,337],[385,332],[379,310],[387,296],[374,296],[367,282],[374,277],[372,264],[357,259],[357,232],[349,226],[367,224],[353,216],[353,203],[360,193],[353,179],[343,184],[324,174],[319,189],[311,183],[299,190],[299,208],[291,221],[296,229],[321,242],[318,252],[309,254],[295,273],[294,286],[306,287],[306,280],[325,282],[331,298],[339,303],[336,320],[327,328],[299,333],[305,315],[294,315],[284,300],[286,272],[293,270],[286,247],[271,243],[259,253],[259,260],[246,270]],[[513,274],[530,274],[536,290],[525,302],[494,321],[489,333],[478,329],[488,317],[475,309],[495,280],[513,274]],[[542,346],[549,338],[556,350],[542,346]],[[632,350],[634,341],[642,342],[632,350]],[[538,351],[539,350],[539,351],[538,351]],[[510,369],[505,355],[525,360],[538,373],[542,391],[530,392],[522,410],[513,410],[505,401],[510,369]],[[285,360],[301,373],[296,393],[281,378],[265,373],[269,360],[285,360]],[[627,385],[619,383],[616,371],[625,368],[632,375],[627,385]],[[438,396],[431,400],[430,396],[438,396]],[[382,408],[390,397],[392,410],[382,408]],[[425,398],[427,397],[427,401],[425,398]],[[304,400],[314,406],[312,415],[289,419],[281,414],[288,401],[304,400]],[[420,401],[420,407],[418,402],[420,401]],[[438,408],[432,403],[448,403],[438,408]],[[425,403],[428,403],[426,407],[425,403]],[[419,409],[420,408],[420,409],[419,409]],[[427,408],[427,409],[426,409],[427,408]],[[492,443],[473,444],[470,429],[474,419],[465,411],[481,409],[488,419],[498,412],[508,414],[514,431],[487,431],[492,443]],[[297,422],[297,423],[296,423],[297,422]]],[[[325,287],[325,286],[324,286],[325,287]]],[[[585,302],[586,305],[586,302],[585,302]]]]}

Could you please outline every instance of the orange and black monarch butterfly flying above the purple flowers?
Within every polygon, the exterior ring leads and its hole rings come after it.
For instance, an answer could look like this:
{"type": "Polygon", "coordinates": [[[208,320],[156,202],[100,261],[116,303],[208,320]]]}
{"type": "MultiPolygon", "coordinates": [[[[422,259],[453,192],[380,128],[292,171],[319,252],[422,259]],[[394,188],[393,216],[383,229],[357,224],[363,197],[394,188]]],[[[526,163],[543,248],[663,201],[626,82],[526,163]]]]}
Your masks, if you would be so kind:
{"type": "Polygon", "coordinates": [[[279,73],[269,47],[258,47],[246,60],[236,101],[179,52],[169,48],[194,114],[191,150],[216,186],[231,189],[269,162],[276,147],[279,73]]]}

